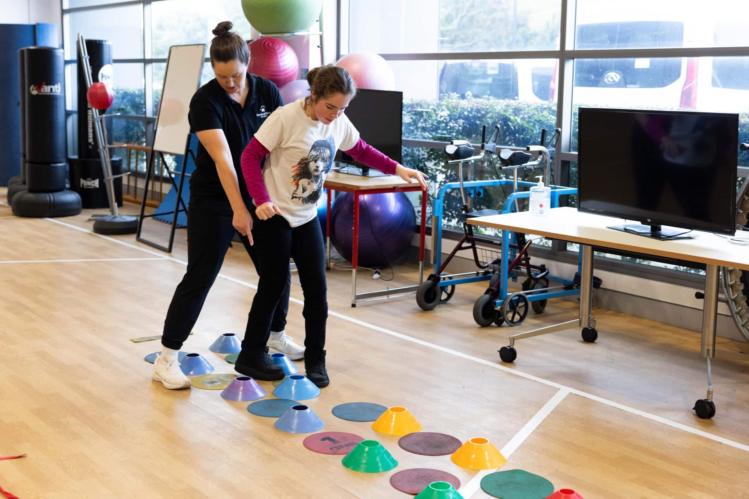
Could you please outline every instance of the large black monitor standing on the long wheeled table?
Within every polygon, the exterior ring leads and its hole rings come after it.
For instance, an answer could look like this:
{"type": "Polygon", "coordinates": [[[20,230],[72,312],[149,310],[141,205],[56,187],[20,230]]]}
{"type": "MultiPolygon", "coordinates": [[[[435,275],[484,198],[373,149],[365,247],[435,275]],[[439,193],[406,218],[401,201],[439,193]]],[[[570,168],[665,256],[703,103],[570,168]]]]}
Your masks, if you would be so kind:
{"type": "Polygon", "coordinates": [[[657,239],[733,235],[738,147],[739,114],[580,108],[577,209],[657,239]]]}

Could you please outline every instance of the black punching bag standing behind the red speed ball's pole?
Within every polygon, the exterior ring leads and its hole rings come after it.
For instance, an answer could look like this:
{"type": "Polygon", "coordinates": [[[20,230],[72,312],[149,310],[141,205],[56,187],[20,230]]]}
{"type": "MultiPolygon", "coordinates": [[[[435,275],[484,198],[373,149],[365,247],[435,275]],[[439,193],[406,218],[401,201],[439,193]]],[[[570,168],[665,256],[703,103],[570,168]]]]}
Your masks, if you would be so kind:
{"type": "MultiPolygon", "coordinates": [[[[112,43],[106,40],[86,40],[88,62],[91,64],[91,82],[102,82],[112,90],[112,43]]],[[[86,79],[83,75],[83,63],[78,54],[78,157],[80,159],[99,159],[99,147],[94,137],[94,121],[91,105],[86,98],[86,79]]],[[[101,111],[100,114],[104,114],[101,111]]],[[[111,129],[111,128],[110,128],[111,129]]]]}

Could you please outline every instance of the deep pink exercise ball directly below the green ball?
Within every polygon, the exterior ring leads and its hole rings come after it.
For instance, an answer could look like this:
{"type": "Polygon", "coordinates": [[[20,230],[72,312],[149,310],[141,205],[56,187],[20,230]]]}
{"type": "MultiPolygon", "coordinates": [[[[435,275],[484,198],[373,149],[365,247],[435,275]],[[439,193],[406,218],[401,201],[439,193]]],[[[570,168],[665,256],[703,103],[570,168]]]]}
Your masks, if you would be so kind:
{"type": "Polygon", "coordinates": [[[299,76],[299,59],[291,45],[278,38],[260,37],[249,47],[249,72],[275,83],[278,88],[299,76]]]}

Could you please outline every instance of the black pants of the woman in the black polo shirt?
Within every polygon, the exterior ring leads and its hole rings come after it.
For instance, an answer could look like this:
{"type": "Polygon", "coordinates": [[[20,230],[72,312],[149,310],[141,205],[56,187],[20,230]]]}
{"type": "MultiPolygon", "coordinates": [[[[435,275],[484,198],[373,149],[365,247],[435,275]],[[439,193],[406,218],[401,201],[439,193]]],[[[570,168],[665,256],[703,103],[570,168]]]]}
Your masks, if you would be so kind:
{"type": "MultiPolygon", "coordinates": [[[[246,202],[247,209],[255,216],[255,205],[246,202]]],[[[201,196],[190,193],[189,210],[187,212],[187,272],[182,282],[178,284],[169,311],[164,320],[164,333],[161,344],[170,349],[181,349],[187,340],[192,327],[198,320],[205,297],[208,295],[213,281],[216,280],[224,261],[231,239],[237,230],[232,225],[234,212],[226,198],[216,196],[201,196]]],[[[257,223],[255,221],[255,223],[257,223]]],[[[320,229],[318,228],[318,231],[320,229]]],[[[255,230],[252,231],[255,233],[255,230]]],[[[258,256],[255,248],[258,237],[255,236],[255,246],[249,245],[247,236],[242,236],[242,243],[246,249],[258,274],[258,256]]],[[[269,326],[271,331],[283,331],[286,326],[288,313],[288,295],[291,290],[291,274],[286,259],[286,270],[279,278],[281,291],[279,299],[270,310],[269,326]],[[272,324],[272,325],[271,325],[272,324]]],[[[250,319],[247,321],[245,337],[250,331],[250,319]]],[[[263,345],[264,346],[264,345],[263,345]]]]}

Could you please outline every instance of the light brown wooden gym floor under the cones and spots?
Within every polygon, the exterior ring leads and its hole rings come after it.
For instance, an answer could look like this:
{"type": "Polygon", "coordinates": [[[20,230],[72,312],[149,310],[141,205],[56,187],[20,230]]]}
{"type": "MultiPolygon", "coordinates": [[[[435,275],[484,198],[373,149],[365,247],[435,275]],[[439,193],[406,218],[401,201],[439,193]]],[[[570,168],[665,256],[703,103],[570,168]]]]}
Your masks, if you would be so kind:
{"type": "MultiPolygon", "coordinates": [[[[328,272],[332,382],[307,402],[326,430],[381,441],[398,459],[392,472],[349,471],[339,457],[306,450],[305,435],[279,432],[217,391],[167,391],[143,361],[160,344],[130,338],[161,334],[184,275],[185,232],[172,255],[134,236],[85,232],[88,215],[103,211],[55,223],[11,217],[0,204],[0,456],[28,453],[0,461],[0,486],[21,499],[405,498],[389,477],[407,468],[449,471],[465,498],[490,497],[472,481],[482,474],[449,456],[406,453],[398,438],[330,413],[357,401],[403,405],[425,431],[488,438],[506,447],[503,470],[540,474],[585,499],[749,497],[748,365],[714,362],[718,414],[700,420],[690,409],[705,396],[706,369],[694,331],[595,310],[596,343],[575,328],[521,340],[517,361],[500,364],[496,350],[509,334],[577,310],[552,300],[515,328],[477,328],[471,307],[481,284],[459,287],[431,312],[413,296],[351,308],[350,273],[328,272]]],[[[168,229],[148,221],[145,235],[166,241],[168,229]]],[[[360,291],[405,284],[414,271],[396,269],[391,283],[362,272],[360,291]]],[[[294,280],[287,331],[301,342],[303,293],[294,280]]],[[[219,334],[243,334],[254,284],[252,263],[235,245],[185,346],[216,372],[233,370],[208,346],[219,334]]]]}

